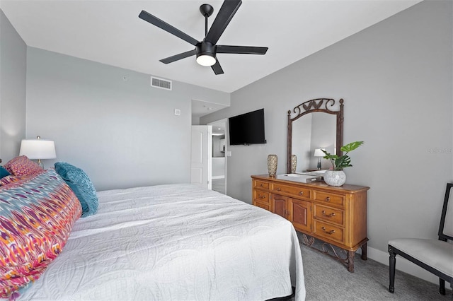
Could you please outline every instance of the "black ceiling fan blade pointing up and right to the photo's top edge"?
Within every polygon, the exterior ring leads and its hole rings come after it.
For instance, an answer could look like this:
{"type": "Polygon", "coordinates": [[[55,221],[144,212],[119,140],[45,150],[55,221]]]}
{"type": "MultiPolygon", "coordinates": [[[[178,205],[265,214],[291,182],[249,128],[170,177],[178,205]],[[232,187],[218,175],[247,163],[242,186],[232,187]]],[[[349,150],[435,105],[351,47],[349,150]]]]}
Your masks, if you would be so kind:
{"type": "Polygon", "coordinates": [[[217,13],[214,22],[211,25],[210,31],[207,33],[205,37],[205,41],[211,42],[212,44],[216,44],[219,40],[219,37],[224,33],[226,26],[228,25],[231,18],[233,18],[234,14],[238,10],[239,6],[241,6],[242,1],[239,0],[225,0],[224,4],[217,13]]]}

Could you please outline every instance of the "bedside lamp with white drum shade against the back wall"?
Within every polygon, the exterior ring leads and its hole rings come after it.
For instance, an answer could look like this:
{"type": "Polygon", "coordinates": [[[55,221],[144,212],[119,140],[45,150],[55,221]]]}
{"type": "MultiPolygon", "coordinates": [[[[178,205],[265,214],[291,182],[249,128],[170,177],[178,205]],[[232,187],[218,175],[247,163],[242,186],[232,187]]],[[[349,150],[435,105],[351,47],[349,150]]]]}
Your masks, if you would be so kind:
{"type": "Polygon", "coordinates": [[[41,168],[44,168],[42,159],[57,158],[54,141],[42,140],[40,136],[37,136],[36,139],[23,139],[19,155],[26,155],[28,159],[38,159],[41,168]]]}

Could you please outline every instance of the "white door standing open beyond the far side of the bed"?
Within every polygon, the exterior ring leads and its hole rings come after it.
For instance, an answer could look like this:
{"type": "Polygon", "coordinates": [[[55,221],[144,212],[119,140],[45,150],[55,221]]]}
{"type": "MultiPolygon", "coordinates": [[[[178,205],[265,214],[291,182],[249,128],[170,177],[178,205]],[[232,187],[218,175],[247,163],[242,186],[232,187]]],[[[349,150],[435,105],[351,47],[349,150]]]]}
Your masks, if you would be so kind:
{"type": "Polygon", "coordinates": [[[211,189],[212,126],[192,126],[190,182],[211,189]]]}

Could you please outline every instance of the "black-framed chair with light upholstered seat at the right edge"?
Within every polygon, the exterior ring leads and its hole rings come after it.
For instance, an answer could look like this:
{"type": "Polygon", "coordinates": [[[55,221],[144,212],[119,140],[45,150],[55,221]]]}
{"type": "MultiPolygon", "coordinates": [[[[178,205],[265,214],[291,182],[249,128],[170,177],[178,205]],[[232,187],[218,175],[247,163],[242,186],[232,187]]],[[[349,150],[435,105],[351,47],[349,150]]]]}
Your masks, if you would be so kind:
{"type": "MultiPolygon", "coordinates": [[[[400,255],[439,277],[439,292],[445,295],[445,281],[453,288],[453,184],[447,184],[440,218],[439,240],[396,238],[389,241],[389,291],[394,293],[395,261],[400,255]]],[[[452,295],[453,300],[453,295],[452,295]]]]}

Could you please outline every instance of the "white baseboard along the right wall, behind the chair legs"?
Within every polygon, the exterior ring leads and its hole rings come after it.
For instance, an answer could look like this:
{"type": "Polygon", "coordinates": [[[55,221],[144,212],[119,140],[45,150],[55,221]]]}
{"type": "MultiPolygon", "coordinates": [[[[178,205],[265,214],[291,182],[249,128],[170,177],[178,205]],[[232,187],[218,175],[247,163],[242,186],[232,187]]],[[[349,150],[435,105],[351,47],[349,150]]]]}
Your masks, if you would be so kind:
{"type": "MultiPolygon", "coordinates": [[[[367,257],[369,259],[373,259],[377,262],[380,262],[381,264],[389,266],[388,252],[382,252],[378,249],[367,247],[367,257]]],[[[437,285],[439,284],[439,278],[436,277],[434,274],[426,271],[424,268],[420,268],[420,266],[417,266],[416,264],[413,264],[411,261],[408,261],[407,259],[398,255],[396,256],[396,270],[403,271],[405,273],[411,274],[412,276],[421,278],[425,281],[430,281],[437,285]]],[[[398,273],[396,273],[395,278],[397,277],[398,273]]],[[[447,283],[445,284],[446,284],[445,286],[447,287],[447,283]]]]}

